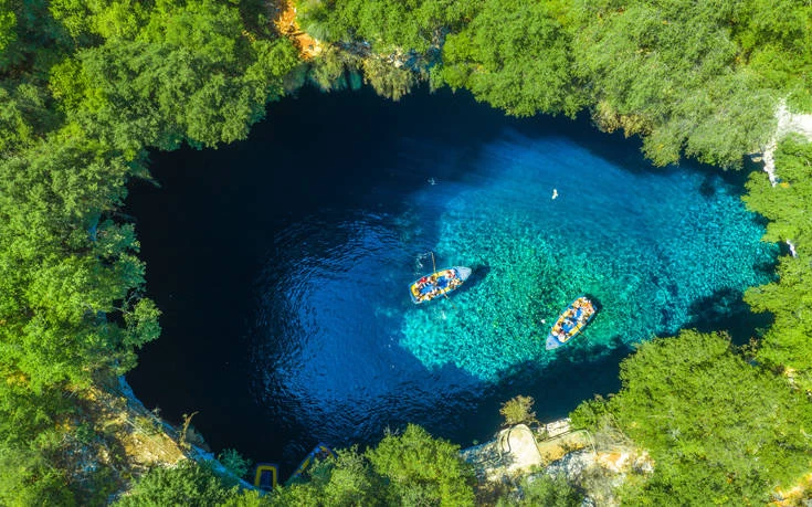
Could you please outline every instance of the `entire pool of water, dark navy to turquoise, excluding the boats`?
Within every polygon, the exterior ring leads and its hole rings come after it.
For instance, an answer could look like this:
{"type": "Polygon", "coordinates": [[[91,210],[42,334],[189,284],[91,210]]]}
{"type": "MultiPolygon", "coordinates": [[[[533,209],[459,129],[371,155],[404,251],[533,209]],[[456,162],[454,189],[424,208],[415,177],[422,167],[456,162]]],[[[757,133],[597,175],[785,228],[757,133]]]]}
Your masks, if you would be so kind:
{"type": "Polygon", "coordinates": [[[128,211],[164,336],[128,378],[148,406],[199,411],[213,447],[284,477],[318,441],[375,443],[405,422],[486,440],[516,394],[541,420],[566,415],[619,389],[633,344],[681,327],[746,340],[766,323],[740,293],[776,251],[741,175],[652,168],[637,148],[463,94],[304,91],[247,141],[156,154],[161,188],[137,184],[128,211]],[[415,306],[429,252],[474,275],[415,306]],[[546,351],[581,294],[601,311],[546,351]]]}

